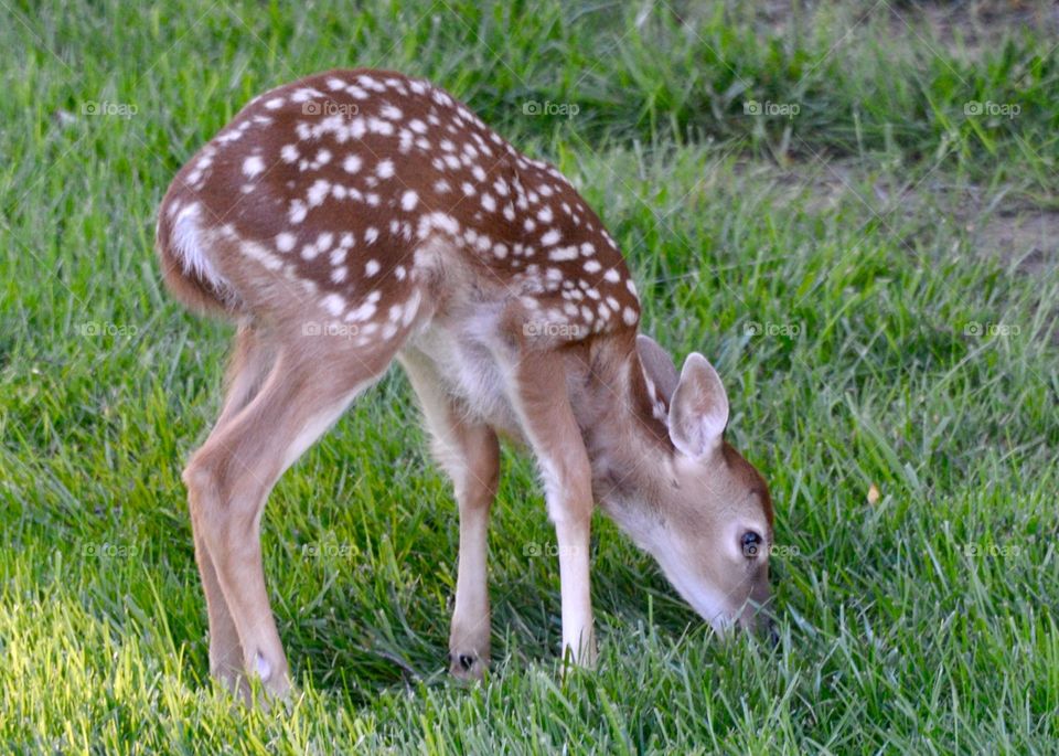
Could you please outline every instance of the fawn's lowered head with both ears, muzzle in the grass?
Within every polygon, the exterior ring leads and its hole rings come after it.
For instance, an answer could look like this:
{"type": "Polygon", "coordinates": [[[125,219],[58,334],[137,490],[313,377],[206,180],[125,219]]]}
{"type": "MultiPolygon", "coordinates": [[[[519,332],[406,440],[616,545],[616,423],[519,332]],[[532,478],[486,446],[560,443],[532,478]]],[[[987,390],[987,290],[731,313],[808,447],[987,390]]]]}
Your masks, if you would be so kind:
{"type": "MultiPolygon", "coordinates": [[[[664,403],[668,444],[611,508],[677,592],[717,630],[757,628],[769,598],[772,501],[763,478],[725,439],[728,397],[698,353],[677,374],[649,337],[638,352],[664,403]]],[[[646,467],[646,466],[645,466],[646,467]]]]}

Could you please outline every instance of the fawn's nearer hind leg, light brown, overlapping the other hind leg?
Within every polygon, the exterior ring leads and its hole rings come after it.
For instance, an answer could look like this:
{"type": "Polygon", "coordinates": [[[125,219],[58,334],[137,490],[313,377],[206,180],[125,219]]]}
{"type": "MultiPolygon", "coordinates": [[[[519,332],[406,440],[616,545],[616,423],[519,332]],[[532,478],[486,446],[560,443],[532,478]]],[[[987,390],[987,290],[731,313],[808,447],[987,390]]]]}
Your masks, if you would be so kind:
{"type": "Polygon", "coordinates": [[[214,428],[184,470],[196,537],[213,567],[212,575],[203,571],[203,583],[220,586],[243,670],[271,694],[285,694],[290,682],[261,566],[265,501],[282,472],[385,371],[398,344],[355,348],[339,337],[288,334],[260,390],[214,428]]]}

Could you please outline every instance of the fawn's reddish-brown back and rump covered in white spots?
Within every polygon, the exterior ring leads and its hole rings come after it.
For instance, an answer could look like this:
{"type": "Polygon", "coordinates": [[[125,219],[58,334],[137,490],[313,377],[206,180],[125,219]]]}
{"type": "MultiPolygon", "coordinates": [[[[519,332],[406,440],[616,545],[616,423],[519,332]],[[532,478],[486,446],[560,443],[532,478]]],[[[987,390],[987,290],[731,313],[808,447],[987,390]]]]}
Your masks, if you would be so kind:
{"type": "Polygon", "coordinates": [[[159,247],[200,309],[319,312],[360,344],[512,298],[545,340],[639,320],[621,255],[569,182],[396,73],[333,71],[252,100],[178,174],[159,247]]]}

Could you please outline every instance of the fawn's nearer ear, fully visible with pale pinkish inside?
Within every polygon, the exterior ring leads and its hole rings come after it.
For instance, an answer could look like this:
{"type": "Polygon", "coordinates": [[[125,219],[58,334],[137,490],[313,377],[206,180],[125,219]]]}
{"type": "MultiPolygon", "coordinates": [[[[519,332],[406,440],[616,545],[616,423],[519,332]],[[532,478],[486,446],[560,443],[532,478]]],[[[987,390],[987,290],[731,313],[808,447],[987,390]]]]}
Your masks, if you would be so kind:
{"type": "Polygon", "coordinates": [[[728,424],[728,395],[714,366],[698,352],[684,361],[670,403],[670,439],[688,457],[704,457],[720,446],[728,424]]]}

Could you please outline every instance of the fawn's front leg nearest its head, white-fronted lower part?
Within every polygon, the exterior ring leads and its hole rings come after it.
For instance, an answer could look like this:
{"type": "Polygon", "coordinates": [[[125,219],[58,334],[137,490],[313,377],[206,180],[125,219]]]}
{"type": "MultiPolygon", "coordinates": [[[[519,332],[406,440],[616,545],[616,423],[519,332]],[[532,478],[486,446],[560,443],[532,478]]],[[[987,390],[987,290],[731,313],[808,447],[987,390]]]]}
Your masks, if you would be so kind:
{"type": "Polygon", "coordinates": [[[509,393],[545,480],[555,523],[563,592],[563,653],[582,667],[596,664],[589,590],[592,477],[588,452],[570,407],[563,356],[523,353],[509,368],[509,393]]]}

